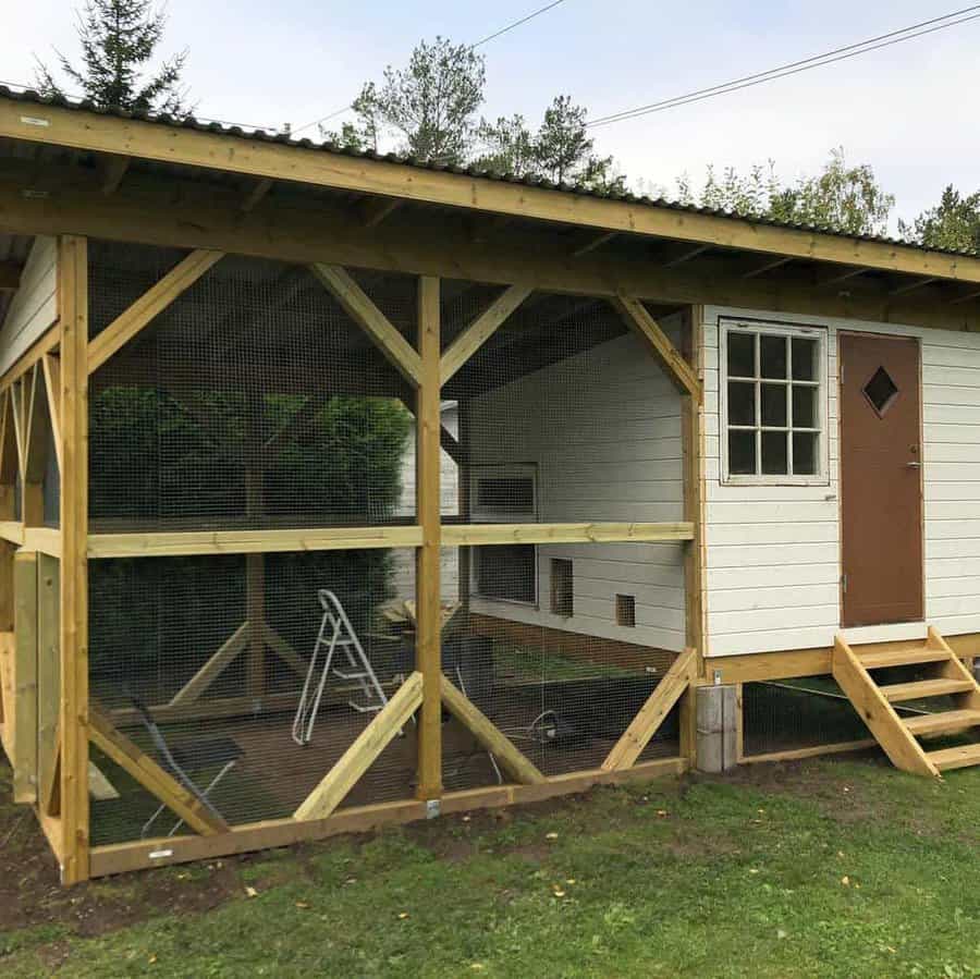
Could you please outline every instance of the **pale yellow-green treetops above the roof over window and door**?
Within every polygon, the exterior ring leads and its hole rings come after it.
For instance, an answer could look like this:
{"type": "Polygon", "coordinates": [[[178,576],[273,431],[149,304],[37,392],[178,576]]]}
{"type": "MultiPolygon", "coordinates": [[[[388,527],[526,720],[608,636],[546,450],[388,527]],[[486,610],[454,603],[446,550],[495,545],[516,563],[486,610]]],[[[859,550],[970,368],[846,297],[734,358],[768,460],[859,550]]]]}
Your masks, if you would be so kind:
{"type": "Polygon", "coordinates": [[[845,234],[884,234],[895,206],[895,197],[879,185],[871,167],[848,167],[843,148],[831,150],[819,175],[800,176],[793,184],[780,182],[770,160],[768,168],[754,167],[747,175],[728,168],[721,180],[709,168],[699,194],[686,176],[677,181],[677,188],[685,204],[845,234]]]}

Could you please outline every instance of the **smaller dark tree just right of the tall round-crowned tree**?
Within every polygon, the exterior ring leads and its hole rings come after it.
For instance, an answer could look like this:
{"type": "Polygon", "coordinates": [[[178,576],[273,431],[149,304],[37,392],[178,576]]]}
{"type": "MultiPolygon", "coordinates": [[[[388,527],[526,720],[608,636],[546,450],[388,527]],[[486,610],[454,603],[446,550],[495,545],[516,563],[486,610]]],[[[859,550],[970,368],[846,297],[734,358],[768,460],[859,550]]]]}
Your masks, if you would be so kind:
{"type": "Polygon", "coordinates": [[[482,122],[479,127],[483,152],[476,166],[518,176],[535,176],[553,183],[571,183],[592,191],[622,192],[625,179],[615,173],[612,157],[595,152],[588,135],[587,113],[572,97],[558,96],[544,110],[537,133],[523,115],[482,122]]]}

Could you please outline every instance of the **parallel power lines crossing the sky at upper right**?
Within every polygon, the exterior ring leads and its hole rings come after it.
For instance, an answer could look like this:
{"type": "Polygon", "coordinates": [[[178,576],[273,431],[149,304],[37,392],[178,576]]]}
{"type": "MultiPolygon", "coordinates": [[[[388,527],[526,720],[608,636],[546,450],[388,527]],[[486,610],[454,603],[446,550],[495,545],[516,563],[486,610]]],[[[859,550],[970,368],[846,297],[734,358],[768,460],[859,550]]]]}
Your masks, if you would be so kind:
{"type": "Polygon", "coordinates": [[[813,54],[800,61],[793,61],[777,68],[769,69],[764,72],[757,72],[751,75],[744,75],[740,78],[733,78],[730,82],[723,82],[720,85],[712,85],[709,88],[700,88],[689,91],[685,95],[674,96],[670,99],[663,99],[659,102],[650,102],[646,106],[639,106],[635,109],[626,109],[622,112],[613,112],[609,115],[601,115],[587,123],[590,127],[610,125],[614,122],[622,122],[627,119],[637,119],[642,115],[649,115],[653,112],[663,112],[666,109],[674,109],[678,106],[688,106],[693,102],[703,101],[705,99],[714,98],[719,95],[727,95],[731,91],[738,91],[743,88],[751,88],[756,85],[762,85],[765,82],[774,82],[776,78],[785,78],[789,75],[796,75],[814,68],[822,68],[826,64],[833,64],[837,61],[845,61],[848,58],[857,58],[858,54],[866,54],[870,51],[877,51],[880,48],[887,48],[892,45],[899,44],[904,40],[912,40],[917,37],[923,37],[927,34],[933,34],[936,30],[944,30],[947,27],[955,27],[959,24],[966,24],[969,21],[980,19],[980,4],[966,7],[963,10],[953,11],[940,17],[932,17],[918,24],[911,24],[899,30],[892,30],[887,34],[881,34],[878,37],[870,37],[862,41],[846,45],[842,48],[834,48],[831,51],[824,51],[822,54],[813,54]],[[969,14],[969,16],[960,16],[969,14]],[[952,20],[959,17],[959,20],[952,20]],[[944,22],[944,23],[941,23],[944,22]]]}

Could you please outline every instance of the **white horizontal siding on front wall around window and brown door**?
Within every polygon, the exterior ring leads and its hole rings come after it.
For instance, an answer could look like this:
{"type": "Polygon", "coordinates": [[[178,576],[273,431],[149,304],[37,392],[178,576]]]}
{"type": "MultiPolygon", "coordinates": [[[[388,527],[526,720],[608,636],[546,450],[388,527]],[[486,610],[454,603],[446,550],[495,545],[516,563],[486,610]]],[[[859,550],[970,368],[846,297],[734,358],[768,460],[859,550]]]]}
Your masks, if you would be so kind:
{"type": "Polygon", "coordinates": [[[706,310],[709,653],[829,646],[840,631],[837,331],[922,338],[926,619],[980,631],[980,335],[762,311],[706,310]],[[723,486],[719,316],[828,327],[830,485],[723,486]]]}

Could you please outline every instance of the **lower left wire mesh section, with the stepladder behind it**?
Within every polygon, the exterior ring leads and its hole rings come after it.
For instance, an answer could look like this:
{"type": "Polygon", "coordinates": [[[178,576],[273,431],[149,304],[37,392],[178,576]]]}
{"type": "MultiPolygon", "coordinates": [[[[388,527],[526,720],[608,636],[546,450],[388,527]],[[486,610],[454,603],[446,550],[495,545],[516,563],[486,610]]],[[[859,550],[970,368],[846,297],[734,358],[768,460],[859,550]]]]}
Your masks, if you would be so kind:
{"type": "MultiPolygon", "coordinates": [[[[291,816],[413,670],[414,593],[397,587],[396,556],[91,562],[93,709],[164,771],[176,762],[195,793],[221,775],[208,798],[228,823],[291,816]]],[[[93,759],[118,793],[93,803],[94,842],[173,828],[170,812],[147,828],[159,801],[93,759]]],[[[412,798],[414,785],[406,727],[342,805],[412,798]]]]}

